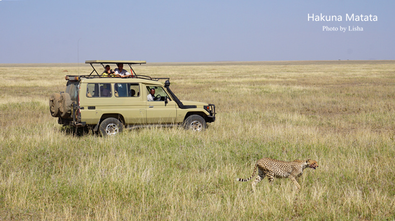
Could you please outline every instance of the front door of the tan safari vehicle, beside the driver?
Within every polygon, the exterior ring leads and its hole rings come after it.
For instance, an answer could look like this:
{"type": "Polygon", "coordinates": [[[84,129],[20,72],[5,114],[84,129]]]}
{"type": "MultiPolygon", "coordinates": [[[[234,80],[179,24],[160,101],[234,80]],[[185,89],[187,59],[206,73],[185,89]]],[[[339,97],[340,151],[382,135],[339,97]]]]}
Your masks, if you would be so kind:
{"type": "Polygon", "coordinates": [[[162,86],[146,85],[147,123],[174,123],[177,117],[177,104],[173,101],[162,86]],[[155,89],[155,101],[148,101],[150,90],[155,89]],[[167,102],[165,102],[167,100],[167,102]]]}

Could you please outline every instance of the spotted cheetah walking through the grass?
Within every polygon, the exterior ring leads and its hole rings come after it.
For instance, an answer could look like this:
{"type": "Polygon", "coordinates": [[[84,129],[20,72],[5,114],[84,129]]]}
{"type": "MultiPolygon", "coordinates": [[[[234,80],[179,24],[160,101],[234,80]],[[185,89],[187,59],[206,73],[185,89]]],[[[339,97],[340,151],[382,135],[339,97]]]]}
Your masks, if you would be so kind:
{"type": "Polygon", "coordinates": [[[306,161],[278,161],[270,158],[262,158],[257,161],[255,167],[253,168],[253,172],[250,178],[241,179],[238,178],[237,181],[246,182],[252,179],[255,176],[258,168],[258,177],[256,180],[252,182],[252,192],[255,192],[255,185],[259,183],[265,176],[268,177],[269,183],[273,181],[273,178],[286,178],[289,177],[295,184],[297,191],[300,190],[300,185],[296,180],[303,174],[303,170],[305,168],[313,168],[316,169],[318,167],[317,161],[314,160],[306,160],[306,161]]]}

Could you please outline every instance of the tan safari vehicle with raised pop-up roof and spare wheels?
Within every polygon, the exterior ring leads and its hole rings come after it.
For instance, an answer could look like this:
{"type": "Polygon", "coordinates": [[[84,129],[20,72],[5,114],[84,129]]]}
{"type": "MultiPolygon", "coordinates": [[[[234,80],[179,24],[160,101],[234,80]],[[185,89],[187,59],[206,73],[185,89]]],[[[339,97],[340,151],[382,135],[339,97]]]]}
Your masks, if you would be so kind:
{"type": "MultiPolygon", "coordinates": [[[[89,127],[102,136],[115,135],[124,129],[168,127],[203,131],[206,123],[215,121],[215,105],[180,101],[170,89],[170,78],[136,75],[131,65],[146,61],[87,60],[93,71],[89,75],[67,75],[66,91],[52,93],[50,113],[63,125],[89,127]],[[129,65],[130,76],[101,75],[94,64],[129,65]],[[165,81],[164,84],[160,80],[165,81]],[[155,89],[154,101],[148,101],[155,89]]],[[[101,72],[100,72],[101,73],[101,72]]]]}

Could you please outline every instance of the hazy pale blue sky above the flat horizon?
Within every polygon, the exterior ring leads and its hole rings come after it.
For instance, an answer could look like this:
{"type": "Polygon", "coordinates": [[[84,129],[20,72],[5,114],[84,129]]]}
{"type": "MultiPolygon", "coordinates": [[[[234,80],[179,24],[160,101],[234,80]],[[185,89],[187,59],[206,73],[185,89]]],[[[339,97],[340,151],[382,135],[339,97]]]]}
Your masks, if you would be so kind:
{"type": "Polygon", "coordinates": [[[395,59],[394,9],[393,0],[0,0],[0,63],[395,59]],[[377,21],[355,21],[361,14],[377,21]]]}

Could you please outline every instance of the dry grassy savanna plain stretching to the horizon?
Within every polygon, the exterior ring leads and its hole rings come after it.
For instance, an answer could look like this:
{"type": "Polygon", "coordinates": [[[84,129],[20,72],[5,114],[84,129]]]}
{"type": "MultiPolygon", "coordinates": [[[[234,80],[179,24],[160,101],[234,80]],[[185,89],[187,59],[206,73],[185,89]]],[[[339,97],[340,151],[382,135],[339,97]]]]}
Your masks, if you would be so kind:
{"type": "MultiPolygon", "coordinates": [[[[111,67],[115,68],[115,67],[111,67]]],[[[101,69],[100,69],[101,70],[101,69]]],[[[0,219],[394,220],[395,61],[163,63],[181,100],[216,105],[203,133],[72,133],[49,113],[84,64],[0,65],[0,219]],[[296,192],[262,157],[316,160],[296,192]]]]}

